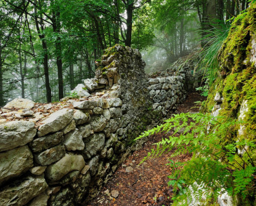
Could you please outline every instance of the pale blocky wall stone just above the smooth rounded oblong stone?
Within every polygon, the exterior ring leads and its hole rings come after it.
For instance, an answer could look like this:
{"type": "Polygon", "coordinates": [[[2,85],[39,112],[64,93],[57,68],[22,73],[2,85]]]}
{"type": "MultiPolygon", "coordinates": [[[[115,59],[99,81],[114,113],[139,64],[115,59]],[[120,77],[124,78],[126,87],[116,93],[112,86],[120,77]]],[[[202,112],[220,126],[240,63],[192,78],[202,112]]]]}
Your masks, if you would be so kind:
{"type": "Polygon", "coordinates": [[[78,129],[68,132],[65,135],[64,145],[68,151],[84,149],[83,137],[78,129]]]}

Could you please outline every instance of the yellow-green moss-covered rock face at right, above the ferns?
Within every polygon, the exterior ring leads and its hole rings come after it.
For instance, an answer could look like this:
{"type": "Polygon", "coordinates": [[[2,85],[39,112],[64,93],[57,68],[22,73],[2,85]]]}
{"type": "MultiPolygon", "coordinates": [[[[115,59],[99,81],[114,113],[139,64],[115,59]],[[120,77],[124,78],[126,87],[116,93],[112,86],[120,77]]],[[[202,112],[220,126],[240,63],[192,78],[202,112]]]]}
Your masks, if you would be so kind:
{"type": "MultiPolygon", "coordinates": [[[[205,111],[213,112],[218,105],[219,115],[243,121],[232,128],[236,136],[223,137],[223,142],[247,139],[256,141],[256,4],[237,16],[219,55],[220,77],[210,88],[205,111]],[[219,92],[221,102],[216,102],[219,92]],[[213,109],[214,108],[214,109],[213,109]]],[[[237,148],[242,155],[243,148],[237,148]]],[[[251,156],[256,150],[247,147],[251,156]]],[[[246,159],[246,157],[244,157],[246,159]]],[[[241,160],[237,160],[240,162],[241,160]]]]}

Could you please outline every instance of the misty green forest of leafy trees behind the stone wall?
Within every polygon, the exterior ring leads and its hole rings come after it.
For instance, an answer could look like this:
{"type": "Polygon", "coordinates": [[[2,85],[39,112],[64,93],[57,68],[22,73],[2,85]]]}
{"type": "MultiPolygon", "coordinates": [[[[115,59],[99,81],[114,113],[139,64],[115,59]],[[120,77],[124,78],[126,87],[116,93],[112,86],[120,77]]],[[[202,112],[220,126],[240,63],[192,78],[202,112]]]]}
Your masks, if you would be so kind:
{"type": "Polygon", "coordinates": [[[0,106],[13,98],[57,101],[115,44],[172,63],[212,29],[230,24],[247,0],[0,0],[0,106]]]}

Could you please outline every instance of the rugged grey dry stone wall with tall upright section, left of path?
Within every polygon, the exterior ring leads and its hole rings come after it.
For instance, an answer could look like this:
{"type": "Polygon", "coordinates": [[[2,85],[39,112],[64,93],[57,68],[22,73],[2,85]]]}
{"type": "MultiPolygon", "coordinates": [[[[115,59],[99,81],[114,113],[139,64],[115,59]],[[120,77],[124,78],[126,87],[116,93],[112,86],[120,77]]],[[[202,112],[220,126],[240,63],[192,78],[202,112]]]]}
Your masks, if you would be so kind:
{"type": "Polygon", "coordinates": [[[92,198],[143,144],[133,139],[185,97],[183,77],[148,80],[136,49],[115,45],[97,64],[95,78],[74,89],[80,98],[46,105],[14,99],[5,106],[13,111],[2,110],[0,205],[72,206],[92,198]]]}

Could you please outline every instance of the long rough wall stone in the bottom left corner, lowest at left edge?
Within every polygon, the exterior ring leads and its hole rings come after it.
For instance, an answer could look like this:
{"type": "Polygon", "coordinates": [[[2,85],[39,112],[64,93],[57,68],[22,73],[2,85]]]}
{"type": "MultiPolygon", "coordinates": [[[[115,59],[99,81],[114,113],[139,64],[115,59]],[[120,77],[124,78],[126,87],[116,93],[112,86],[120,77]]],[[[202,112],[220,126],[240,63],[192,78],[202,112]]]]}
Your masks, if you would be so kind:
{"type": "Polygon", "coordinates": [[[25,177],[0,189],[1,206],[22,206],[41,194],[48,185],[43,177],[25,177]]]}

